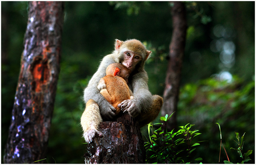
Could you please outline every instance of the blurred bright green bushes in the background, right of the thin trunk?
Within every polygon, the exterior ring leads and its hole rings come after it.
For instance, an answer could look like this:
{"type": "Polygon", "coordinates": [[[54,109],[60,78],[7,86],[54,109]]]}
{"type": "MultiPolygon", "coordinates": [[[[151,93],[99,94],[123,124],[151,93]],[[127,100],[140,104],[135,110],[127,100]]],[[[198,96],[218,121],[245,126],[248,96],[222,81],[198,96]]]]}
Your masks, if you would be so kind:
{"type": "MultiPolygon", "coordinates": [[[[225,134],[222,135],[222,143],[226,148],[232,146],[233,132],[241,131],[246,131],[248,135],[248,143],[243,147],[246,150],[254,148],[255,82],[253,79],[245,85],[243,83],[236,76],[230,83],[213,77],[186,84],[180,89],[178,124],[193,122],[203,132],[200,137],[209,139],[204,146],[197,148],[198,157],[207,157],[203,163],[217,163],[219,157],[220,145],[217,144],[220,130],[215,128],[216,122],[223,125],[221,132],[225,134]],[[211,157],[208,157],[210,154],[211,157]]],[[[233,151],[227,152],[230,160],[239,162],[233,151]]],[[[225,153],[221,153],[220,162],[225,158],[225,153]]],[[[251,159],[254,161],[254,156],[251,159]]]]}

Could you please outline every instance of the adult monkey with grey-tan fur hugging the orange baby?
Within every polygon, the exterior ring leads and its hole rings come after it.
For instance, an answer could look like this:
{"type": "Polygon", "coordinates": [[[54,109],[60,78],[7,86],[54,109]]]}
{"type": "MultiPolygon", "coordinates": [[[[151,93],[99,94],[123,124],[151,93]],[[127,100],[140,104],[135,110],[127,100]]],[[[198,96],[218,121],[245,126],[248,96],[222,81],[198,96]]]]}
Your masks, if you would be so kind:
{"type": "MultiPolygon", "coordinates": [[[[123,101],[119,107],[122,111],[127,111],[131,117],[136,117],[139,120],[139,125],[142,127],[145,124],[154,120],[161,109],[163,98],[158,95],[152,95],[148,90],[148,75],[144,70],[145,61],[151,51],[148,51],[145,46],[136,39],[127,40],[125,42],[116,39],[115,50],[112,54],[106,55],[96,73],[92,76],[88,86],[84,90],[84,101],[87,107],[92,107],[89,111],[91,114],[83,113],[81,118],[82,127],[89,128],[84,131],[83,137],[90,139],[87,142],[92,142],[94,137],[102,137],[101,132],[97,130],[98,124],[103,120],[111,120],[115,117],[116,109],[100,94],[97,89],[98,83],[102,77],[106,75],[106,68],[112,63],[120,63],[131,70],[128,78],[128,86],[133,92],[133,99],[123,101]],[[98,104],[98,106],[97,106],[98,104]],[[101,116],[99,116],[99,113],[101,116]],[[93,116],[90,118],[89,126],[86,116],[93,116]],[[102,117],[102,119],[101,119],[102,117]],[[86,126],[83,124],[87,124],[86,126]]],[[[88,112],[88,108],[87,108],[88,112]]]]}

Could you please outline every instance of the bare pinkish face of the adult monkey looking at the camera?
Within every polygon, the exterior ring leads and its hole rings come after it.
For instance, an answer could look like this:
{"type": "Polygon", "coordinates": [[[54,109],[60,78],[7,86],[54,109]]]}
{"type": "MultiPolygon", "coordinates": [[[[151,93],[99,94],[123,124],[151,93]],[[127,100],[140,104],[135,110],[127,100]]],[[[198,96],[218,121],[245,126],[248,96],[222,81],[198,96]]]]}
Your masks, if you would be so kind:
{"type": "Polygon", "coordinates": [[[140,54],[134,53],[132,51],[123,52],[123,62],[122,64],[128,68],[131,72],[135,69],[136,65],[142,60],[140,54]]]}

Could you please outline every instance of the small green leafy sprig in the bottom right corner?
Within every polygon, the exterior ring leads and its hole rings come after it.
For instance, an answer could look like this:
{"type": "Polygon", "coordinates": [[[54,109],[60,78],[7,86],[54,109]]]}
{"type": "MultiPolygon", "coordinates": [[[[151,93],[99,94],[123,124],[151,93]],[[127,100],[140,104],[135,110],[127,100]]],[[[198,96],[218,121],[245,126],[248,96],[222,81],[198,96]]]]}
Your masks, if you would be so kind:
{"type": "MultiPolygon", "coordinates": [[[[236,134],[236,139],[237,139],[237,145],[238,145],[238,148],[237,149],[235,149],[235,148],[230,148],[230,149],[233,149],[233,150],[236,150],[237,151],[237,153],[239,154],[239,156],[243,159],[242,160],[242,162],[241,163],[239,163],[239,164],[244,164],[244,162],[247,162],[247,161],[249,161],[249,160],[251,160],[250,159],[250,157],[249,157],[249,155],[252,153],[252,150],[248,150],[246,153],[243,153],[243,146],[244,146],[244,136],[245,136],[245,133],[242,135],[242,137],[241,137],[241,141],[239,140],[239,133],[237,133],[237,132],[235,132],[235,134],[236,134]]],[[[229,161],[227,161],[227,160],[224,160],[224,163],[225,164],[233,164],[233,163],[231,163],[231,162],[229,162],[229,161]]]]}

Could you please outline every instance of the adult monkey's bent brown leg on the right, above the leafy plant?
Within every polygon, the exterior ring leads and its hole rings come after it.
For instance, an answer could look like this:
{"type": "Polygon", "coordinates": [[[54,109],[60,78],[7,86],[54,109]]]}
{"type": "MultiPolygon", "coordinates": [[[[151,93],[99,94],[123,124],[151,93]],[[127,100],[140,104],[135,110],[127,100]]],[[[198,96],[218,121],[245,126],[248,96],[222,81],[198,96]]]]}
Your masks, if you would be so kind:
{"type": "Polygon", "coordinates": [[[139,126],[145,126],[146,124],[150,123],[151,121],[155,120],[158,117],[158,114],[161,110],[163,105],[163,98],[158,95],[152,96],[152,105],[146,112],[142,112],[139,116],[139,126]]]}

